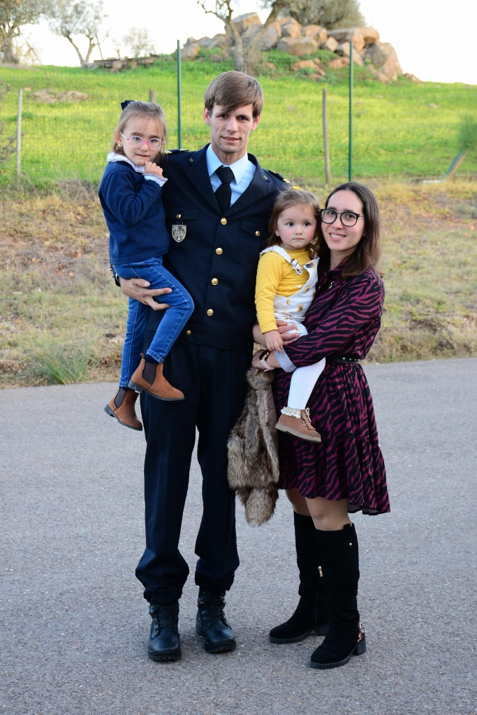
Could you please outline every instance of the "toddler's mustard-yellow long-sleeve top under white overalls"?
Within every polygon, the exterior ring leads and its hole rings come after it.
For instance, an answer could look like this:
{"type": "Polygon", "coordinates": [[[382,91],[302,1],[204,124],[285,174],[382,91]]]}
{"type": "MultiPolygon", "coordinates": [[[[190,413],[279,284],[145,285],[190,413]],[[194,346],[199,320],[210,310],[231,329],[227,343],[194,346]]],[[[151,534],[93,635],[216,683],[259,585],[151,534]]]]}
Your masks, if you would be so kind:
{"type": "MultiPolygon", "coordinates": [[[[310,260],[310,252],[305,248],[297,251],[287,251],[287,254],[292,259],[296,258],[301,267],[310,260]]],[[[275,251],[264,253],[260,257],[257,269],[257,285],[255,287],[255,305],[262,332],[277,330],[277,321],[275,320],[275,310],[273,308],[275,295],[290,297],[300,288],[303,288],[307,280],[308,271],[306,269],[302,275],[298,275],[292,269],[290,263],[275,251]]]]}

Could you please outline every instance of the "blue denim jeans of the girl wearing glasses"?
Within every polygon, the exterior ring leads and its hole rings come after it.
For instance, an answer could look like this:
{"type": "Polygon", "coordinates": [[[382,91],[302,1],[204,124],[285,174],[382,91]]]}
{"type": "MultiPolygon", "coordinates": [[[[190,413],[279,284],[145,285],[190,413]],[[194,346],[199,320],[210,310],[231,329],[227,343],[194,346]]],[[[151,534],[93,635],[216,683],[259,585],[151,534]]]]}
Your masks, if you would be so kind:
{"type": "MultiPolygon", "coordinates": [[[[158,363],[164,363],[164,358],[192,315],[194,310],[192,298],[185,287],[162,266],[161,257],[147,258],[137,263],[120,263],[113,268],[121,278],[142,278],[149,281],[151,289],[172,288],[172,293],[155,298],[157,302],[167,303],[170,307],[164,310],[164,317],[147,350],[147,355],[151,355],[158,363]]],[[[127,388],[132,373],[141,361],[148,310],[148,305],[129,298],[129,315],[122,349],[121,379],[119,380],[119,386],[122,388],[127,388]]]]}

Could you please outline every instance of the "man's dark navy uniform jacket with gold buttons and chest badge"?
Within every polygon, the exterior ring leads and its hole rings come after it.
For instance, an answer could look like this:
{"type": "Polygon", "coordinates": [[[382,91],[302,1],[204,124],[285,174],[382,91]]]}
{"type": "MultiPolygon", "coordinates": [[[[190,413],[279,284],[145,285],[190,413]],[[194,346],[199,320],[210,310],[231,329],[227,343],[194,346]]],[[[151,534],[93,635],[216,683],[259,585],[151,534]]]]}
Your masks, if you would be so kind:
{"type": "MultiPolygon", "coordinates": [[[[207,145],[208,146],[208,145],[207,145]]],[[[245,192],[222,214],[207,172],[207,146],[198,152],[174,151],[164,157],[168,181],[162,189],[167,229],[171,233],[164,266],[192,295],[195,310],[183,337],[199,345],[250,351],[256,322],[255,280],[268,220],[285,179],[260,167],[245,192]],[[184,240],[174,240],[173,225],[184,225],[184,240]]],[[[167,296],[164,296],[167,302],[167,296]]],[[[150,310],[147,332],[162,311],[150,310]]]]}

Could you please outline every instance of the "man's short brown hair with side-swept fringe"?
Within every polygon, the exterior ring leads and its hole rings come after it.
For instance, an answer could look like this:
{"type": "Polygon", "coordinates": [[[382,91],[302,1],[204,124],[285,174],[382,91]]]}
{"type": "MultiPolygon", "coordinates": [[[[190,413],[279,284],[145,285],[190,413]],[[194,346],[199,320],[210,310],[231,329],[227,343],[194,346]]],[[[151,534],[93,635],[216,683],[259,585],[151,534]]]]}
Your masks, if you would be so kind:
{"type": "Polygon", "coordinates": [[[255,77],[250,77],[250,74],[245,74],[245,72],[235,70],[222,72],[218,77],[212,79],[209,87],[205,90],[204,104],[209,112],[212,112],[215,104],[224,107],[227,112],[233,112],[237,107],[252,104],[252,115],[256,119],[262,113],[262,87],[255,77]]]}

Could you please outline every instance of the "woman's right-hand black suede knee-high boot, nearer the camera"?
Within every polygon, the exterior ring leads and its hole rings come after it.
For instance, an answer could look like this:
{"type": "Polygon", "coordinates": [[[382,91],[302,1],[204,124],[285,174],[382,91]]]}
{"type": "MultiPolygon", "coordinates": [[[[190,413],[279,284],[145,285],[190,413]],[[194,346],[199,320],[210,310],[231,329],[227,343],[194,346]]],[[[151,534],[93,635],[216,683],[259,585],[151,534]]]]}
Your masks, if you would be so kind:
{"type": "Polygon", "coordinates": [[[330,628],[311,656],[313,668],[338,668],[366,650],[358,612],[360,578],[358,537],[354,524],[340,531],[318,531],[325,586],[328,589],[330,628]]]}

